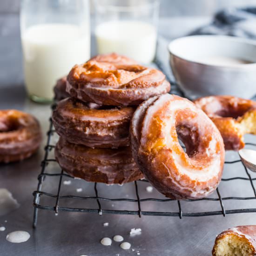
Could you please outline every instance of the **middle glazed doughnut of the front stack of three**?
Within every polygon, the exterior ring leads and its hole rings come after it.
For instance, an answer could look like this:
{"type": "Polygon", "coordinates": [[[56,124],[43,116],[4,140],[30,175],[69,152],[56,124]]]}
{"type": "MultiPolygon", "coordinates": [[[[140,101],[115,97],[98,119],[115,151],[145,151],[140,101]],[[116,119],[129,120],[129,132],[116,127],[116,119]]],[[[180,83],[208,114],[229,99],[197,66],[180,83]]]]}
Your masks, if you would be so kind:
{"type": "Polygon", "coordinates": [[[58,103],[52,120],[58,135],[91,148],[129,145],[133,107],[99,106],[67,98],[58,103]]]}

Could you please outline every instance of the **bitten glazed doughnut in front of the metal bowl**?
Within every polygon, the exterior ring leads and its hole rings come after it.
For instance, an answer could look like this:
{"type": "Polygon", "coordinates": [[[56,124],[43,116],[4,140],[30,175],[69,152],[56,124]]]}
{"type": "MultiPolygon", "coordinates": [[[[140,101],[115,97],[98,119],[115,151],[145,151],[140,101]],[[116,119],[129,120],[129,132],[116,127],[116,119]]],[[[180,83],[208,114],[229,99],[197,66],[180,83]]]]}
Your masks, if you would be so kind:
{"type": "Polygon", "coordinates": [[[255,101],[233,96],[209,96],[194,102],[216,124],[226,150],[243,148],[243,135],[256,134],[255,101]]]}

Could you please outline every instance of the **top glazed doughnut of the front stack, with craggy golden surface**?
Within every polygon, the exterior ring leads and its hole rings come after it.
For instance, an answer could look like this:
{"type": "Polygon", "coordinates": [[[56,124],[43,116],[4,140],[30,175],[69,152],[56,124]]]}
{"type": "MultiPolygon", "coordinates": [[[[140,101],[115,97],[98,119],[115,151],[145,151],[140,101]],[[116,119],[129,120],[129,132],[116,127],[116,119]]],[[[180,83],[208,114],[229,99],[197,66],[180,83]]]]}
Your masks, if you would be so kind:
{"type": "Polygon", "coordinates": [[[75,65],[67,76],[67,92],[72,97],[99,105],[138,105],[169,90],[161,71],[135,64],[90,60],[75,65]]]}

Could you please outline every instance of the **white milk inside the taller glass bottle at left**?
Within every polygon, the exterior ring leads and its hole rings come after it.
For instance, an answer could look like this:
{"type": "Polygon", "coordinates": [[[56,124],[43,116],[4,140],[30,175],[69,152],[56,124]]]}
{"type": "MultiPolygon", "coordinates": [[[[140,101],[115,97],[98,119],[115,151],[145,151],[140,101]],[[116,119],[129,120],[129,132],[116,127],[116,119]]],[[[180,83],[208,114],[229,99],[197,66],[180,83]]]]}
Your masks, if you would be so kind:
{"type": "Polygon", "coordinates": [[[90,34],[85,27],[61,23],[35,25],[22,33],[21,40],[30,96],[53,99],[57,79],[90,57],[90,34]]]}

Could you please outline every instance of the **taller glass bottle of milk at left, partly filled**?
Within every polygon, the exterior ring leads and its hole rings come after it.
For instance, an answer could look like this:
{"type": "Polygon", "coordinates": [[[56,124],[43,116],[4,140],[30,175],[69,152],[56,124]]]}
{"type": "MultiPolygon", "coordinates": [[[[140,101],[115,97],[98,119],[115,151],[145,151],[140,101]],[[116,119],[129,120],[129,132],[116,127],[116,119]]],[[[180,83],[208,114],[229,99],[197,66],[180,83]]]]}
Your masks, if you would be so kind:
{"type": "Polygon", "coordinates": [[[90,58],[88,0],[23,0],[20,31],[27,94],[53,100],[57,79],[90,58]]]}

